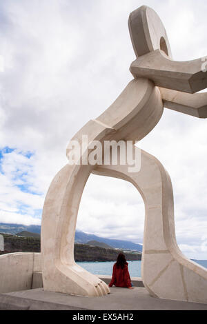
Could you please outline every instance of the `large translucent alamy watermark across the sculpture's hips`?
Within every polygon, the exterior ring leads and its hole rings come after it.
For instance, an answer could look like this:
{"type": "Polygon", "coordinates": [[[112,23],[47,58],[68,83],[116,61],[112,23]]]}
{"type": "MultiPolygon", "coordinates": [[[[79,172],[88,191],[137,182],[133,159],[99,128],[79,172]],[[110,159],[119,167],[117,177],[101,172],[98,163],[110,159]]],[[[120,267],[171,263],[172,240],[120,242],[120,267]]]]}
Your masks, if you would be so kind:
{"type": "Polygon", "coordinates": [[[141,169],[141,150],[133,141],[90,141],[83,135],[81,143],[70,141],[67,148],[70,165],[127,165],[128,172],[141,169]]]}

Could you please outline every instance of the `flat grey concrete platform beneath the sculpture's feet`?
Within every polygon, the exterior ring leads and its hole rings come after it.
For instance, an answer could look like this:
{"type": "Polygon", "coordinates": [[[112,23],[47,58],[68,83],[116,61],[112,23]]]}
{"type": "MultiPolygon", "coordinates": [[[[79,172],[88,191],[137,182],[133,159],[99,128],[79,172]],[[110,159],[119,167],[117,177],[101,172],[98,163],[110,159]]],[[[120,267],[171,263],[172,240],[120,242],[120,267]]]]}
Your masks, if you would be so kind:
{"type": "Polygon", "coordinates": [[[206,304],[151,297],[143,287],[112,287],[101,297],[70,296],[43,288],[0,294],[0,310],[207,310],[206,304]]]}

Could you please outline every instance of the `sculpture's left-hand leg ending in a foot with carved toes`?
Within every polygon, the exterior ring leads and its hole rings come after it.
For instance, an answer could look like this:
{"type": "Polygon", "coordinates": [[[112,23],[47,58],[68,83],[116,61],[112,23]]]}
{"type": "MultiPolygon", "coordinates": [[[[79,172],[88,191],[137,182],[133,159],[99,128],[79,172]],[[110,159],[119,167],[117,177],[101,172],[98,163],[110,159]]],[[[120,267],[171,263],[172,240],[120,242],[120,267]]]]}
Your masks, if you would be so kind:
{"type": "Polygon", "coordinates": [[[91,167],[75,172],[78,166],[66,165],[52,181],[43,207],[41,255],[45,290],[80,296],[110,293],[106,283],[74,261],[77,212],[91,167]]]}

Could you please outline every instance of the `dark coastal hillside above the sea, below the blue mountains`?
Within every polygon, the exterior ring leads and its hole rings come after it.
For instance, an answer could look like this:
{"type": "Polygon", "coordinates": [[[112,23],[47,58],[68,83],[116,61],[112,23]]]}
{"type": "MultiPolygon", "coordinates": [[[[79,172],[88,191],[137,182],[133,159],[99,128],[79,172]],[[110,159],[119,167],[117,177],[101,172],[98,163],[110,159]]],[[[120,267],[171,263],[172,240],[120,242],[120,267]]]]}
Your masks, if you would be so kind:
{"type": "MultiPolygon", "coordinates": [[[[13,252],[40,252],[40,239],[34,237],[15,236],[3,234],[4,250],[0,254],[13,252]]],[[[103,247],[90,246],[75,243],[75,261],[115,261],[120,250],[105,249],[103,247]]],[[[125,253],[126,259],[141,260],[141,254],[125,253]]]]}

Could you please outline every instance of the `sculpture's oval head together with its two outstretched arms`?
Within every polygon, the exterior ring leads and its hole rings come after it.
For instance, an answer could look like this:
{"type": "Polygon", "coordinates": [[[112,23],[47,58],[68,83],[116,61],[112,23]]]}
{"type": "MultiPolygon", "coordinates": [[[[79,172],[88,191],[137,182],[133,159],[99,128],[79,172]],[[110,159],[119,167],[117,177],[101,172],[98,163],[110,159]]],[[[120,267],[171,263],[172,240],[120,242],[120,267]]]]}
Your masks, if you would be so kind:
{"type": "Polygon", "coordinates": [[[207,88],[207,72],[203,69],[206,58],[173,61],[164,25],[147,6],[130,13],[128,26],[137,57],[130,65],[133,77],[157,85],[165,108],[206,118],[207,93],[194,94],[207,88]]]}

